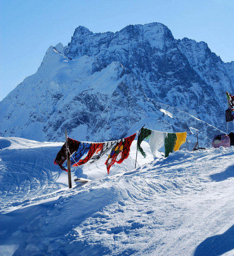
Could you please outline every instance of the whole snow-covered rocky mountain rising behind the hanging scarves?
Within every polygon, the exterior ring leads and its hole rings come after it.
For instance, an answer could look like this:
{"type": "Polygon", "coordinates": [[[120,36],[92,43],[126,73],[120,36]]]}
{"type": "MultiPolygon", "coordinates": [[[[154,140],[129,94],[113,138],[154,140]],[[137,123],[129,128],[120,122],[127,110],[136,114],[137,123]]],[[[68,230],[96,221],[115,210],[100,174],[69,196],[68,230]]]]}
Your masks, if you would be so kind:
{"type": "Polygon", "coordinates": [[[161,23],[116,33],[79,26],[0,102],[0,136],[61,141],[67,129],[77,140],[98,142],[146,124],[168,132],[195,128],[207,146],[226,131],[233,74],[234,62],[223,63],[204,42],[174,39],[161,23]]]}

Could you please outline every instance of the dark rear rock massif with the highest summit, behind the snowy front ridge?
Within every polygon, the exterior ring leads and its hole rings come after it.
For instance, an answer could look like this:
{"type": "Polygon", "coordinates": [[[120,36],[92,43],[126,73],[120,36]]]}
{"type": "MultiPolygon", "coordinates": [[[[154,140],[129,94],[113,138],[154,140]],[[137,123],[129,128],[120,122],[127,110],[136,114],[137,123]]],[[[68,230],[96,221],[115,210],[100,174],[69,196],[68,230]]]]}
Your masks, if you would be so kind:
{"type": "Polygon", "coordinates": [[[224,129],[225,120],[220,122],[220,116],[226,105],[225,91],[234,89],[230,79],[234,69],[228,71],[206,43],[175,40],[160,23],[130,25],[102,34],[78,27],[65,47],[65,56],[86,54],[97,56],[105,65],[120,61],[141,83],[147,97],[224,129]],[[209,113],[211,101],[217,106],[215,116],[209,113]]]}

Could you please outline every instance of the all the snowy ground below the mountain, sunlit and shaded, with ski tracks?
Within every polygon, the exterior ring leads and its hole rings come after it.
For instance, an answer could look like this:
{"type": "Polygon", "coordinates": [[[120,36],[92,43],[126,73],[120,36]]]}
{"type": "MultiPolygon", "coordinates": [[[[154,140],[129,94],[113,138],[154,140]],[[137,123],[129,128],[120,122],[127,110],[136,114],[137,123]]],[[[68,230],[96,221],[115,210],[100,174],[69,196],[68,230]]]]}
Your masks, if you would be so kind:
{"type": "Polygon", "coordinates": [[[0,137],[0,255],[234,255],[234,147],[53,164],[63,143],[0,137]]]}

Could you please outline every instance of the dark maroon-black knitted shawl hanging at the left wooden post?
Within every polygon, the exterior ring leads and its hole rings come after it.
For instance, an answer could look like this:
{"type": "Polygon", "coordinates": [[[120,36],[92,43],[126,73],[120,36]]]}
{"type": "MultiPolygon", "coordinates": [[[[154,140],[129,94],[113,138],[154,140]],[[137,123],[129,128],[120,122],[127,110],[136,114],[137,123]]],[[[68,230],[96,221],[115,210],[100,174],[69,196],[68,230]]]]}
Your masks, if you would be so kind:
{"type": "MultiPolygon", "coordinates": [[[[78,150],[78,148],[80,146],[79,141],[67,138],[67,142],[68,142],[68,148],[69,148],[70,154],[73,154],[75,151],[78,150]]],[[[66,160],[67,160],[66,143],[64,143],[64,145],[62,146],[60,151],[58,151],[58,153],[57,153],[57,156],[54,160],[54,164],[58,165],[62,170],[67,172],[67,169],[65,167],[63,167],[63,163],[66,160]]]]}

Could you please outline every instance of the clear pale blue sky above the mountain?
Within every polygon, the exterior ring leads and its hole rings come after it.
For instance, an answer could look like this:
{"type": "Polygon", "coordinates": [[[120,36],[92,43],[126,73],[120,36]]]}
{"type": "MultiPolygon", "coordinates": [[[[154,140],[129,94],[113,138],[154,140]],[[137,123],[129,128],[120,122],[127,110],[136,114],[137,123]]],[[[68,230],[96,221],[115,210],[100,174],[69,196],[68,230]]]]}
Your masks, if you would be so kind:
{"type": "Polygon", "coordinates": [[[0,100],[34,74],[50,45],[67,45],[75,28],[116,32],[160,22],[176,39],[204,41],[234,60],[234,0],[0,0],[0,100]]]}

